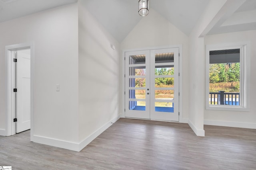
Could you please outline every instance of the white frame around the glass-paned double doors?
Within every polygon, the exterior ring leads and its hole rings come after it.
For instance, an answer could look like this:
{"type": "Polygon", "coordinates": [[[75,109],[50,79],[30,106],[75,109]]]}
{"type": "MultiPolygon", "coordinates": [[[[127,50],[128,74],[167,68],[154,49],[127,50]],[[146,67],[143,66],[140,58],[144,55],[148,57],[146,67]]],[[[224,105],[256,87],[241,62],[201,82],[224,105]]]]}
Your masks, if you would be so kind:
{"type": "MultiPolygon", "coordinates": [[[[159,46],[159,47],[144,47],[144,48],[137,48],[137,49],[125,49],[122,50],[122,112],[121,112],[121,117],[125,117],[125,53],[130,52],[130,51],[142,51],[142,50],[156,50],[156,49],[167,49],[167,48],[179,48],[179,53],[180,53],[180,58],[179,58],[179,91],[180,91],[180,96],[179,96],[179,122],[180,123],[186,123],[186,120],[183,119],[183,111],[182,111],[182,45],[168,45],[168,46],[159,46]]],[[[149,120],[154,120],[154,119],[149,119],[149,120]]],[[[159,120],[158,120],[159,121],[159,120]]]]}

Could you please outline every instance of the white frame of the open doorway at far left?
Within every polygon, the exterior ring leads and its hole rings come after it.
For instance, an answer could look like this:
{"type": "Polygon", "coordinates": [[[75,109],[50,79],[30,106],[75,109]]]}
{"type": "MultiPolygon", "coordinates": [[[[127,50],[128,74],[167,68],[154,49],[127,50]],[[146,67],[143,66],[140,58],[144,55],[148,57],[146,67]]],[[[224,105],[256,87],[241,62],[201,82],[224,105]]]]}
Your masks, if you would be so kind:
{"type": "Polygon", "coordinates": [[[20,43],[14,45],[7,45],[5,47],[6,56],[6,126],[5,136],[14,135],[16,133],[16,126],[13,122],[12,115],[12,51],[30,48],[30,141],[33,137],[34,129],[34,42],[20,43]],[[15,132],[15,133],[14,133],[15,132]]]}

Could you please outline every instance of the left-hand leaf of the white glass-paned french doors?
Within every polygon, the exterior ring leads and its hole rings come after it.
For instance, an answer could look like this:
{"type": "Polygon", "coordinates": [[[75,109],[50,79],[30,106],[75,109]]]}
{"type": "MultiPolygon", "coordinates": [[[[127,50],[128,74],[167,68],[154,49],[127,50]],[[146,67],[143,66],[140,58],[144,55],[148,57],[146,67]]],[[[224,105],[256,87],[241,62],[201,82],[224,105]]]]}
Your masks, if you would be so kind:
{"type": "Polygon", "coordinates": [[[125,53],[125,116],[150,119],[150,51],[125,53]]]}

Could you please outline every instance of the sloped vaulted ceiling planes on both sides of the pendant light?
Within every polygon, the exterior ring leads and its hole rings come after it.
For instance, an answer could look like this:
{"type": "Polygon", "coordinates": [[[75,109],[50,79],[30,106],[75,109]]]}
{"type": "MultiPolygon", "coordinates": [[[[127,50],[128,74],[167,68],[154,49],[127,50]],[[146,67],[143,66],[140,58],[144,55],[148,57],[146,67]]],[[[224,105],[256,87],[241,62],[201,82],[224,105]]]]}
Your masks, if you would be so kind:
{"type": "MultiPolygon", "coordinates": [[[[149,6],[189,35],[208,1],[149,0],[149,6]]],[[[138,0],[85,0],[84,3],[118,41],[122,41],[142,19],[138,14],[138,0]]]]}

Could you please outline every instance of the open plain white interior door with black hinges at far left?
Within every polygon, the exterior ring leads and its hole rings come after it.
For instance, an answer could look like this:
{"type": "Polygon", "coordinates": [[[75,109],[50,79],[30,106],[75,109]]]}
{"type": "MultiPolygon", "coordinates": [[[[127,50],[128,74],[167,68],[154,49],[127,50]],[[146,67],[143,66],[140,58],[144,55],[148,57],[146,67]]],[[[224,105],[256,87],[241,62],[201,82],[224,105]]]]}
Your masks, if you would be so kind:
{"type": "Polygon", "coordinates": [[[30,49],[17,51],[16,133],[30,129],[30,49]]]}

